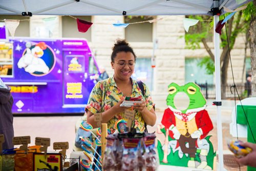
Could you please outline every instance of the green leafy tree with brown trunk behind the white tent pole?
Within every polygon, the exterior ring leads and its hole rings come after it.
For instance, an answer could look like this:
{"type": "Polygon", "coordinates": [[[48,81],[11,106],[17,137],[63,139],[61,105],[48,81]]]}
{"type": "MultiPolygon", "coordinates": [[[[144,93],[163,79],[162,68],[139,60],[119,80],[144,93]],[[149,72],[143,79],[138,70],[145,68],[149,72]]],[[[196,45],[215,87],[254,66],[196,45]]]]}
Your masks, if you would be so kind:
{"type": "MultiPolygon", "coordinates": [[[[252,3],[249,3],[251,6],[252,3]]],[[[248,8],[248,7],[247,7],[248,8]]],[[[222,98],[225,98],[225,87],[227,85],[227,69],[229,65],[229,52],[233,49],[236,38],[240,33],[247,33],[249,29],[249,20],[250,16],[246,15],[243,11],[236,12],[225,24],[222,28],[220,39],[221,39],[221,49],[222,53],[220,55],[221,62],[221,87],[222,87],[222,98]]],[[[248,12],[249,13],[249,12],[248,12]]],[[[220,20],[224,19],[230,13],[226,13],[220,16],[220,20]]],[[[199,49],[204,48],[208,57],[205,57],[204,60],[201,61],[199,66],[205,66],[207,69],[207,73],[212,71],[212,65],[210,65],[210,60],[214,63],[215,56],[212,53],[212,49],[210,48],[210,44],[213,42],[210,41],[213,36],[212,27],[214,26],[214,22],[211,16],[188,16],[189,18],[199,19],[199,23],[193,27],[193,29],[189,28],[189,31],[185,34],[185,42],[186,48],[188,49],[199,49]]]]}

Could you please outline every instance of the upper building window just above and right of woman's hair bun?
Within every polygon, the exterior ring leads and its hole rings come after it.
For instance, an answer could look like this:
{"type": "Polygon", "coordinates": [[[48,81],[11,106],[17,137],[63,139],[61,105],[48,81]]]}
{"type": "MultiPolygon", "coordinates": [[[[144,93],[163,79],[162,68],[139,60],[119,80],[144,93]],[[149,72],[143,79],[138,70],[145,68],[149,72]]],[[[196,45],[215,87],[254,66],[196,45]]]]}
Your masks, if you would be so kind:
{"type": "MultiPolygon", "coordinates": [[[[154,19],[149,16],[124,16],[125,23],[136,23],[154,19]]],[[[139,23],[129,25],[125,28],[125,39],[127,41],[152,42],[153,23],[139,23]]]]}

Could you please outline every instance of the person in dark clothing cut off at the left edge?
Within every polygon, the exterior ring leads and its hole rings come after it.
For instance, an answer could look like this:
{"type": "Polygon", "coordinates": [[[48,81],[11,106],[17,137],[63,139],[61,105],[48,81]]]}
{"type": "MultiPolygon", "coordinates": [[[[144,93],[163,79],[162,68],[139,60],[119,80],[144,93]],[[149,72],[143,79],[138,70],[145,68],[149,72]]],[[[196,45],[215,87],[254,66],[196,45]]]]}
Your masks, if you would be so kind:
{"type": "Polygon", "coordinates": [[[14,130],[12,104],[11,88],[6,86],[0,78],[0,134],[4,134],[5,137],[5,142],[2,146],[3,149],[13,148],[12,138],[14,137],[14,130]]]}

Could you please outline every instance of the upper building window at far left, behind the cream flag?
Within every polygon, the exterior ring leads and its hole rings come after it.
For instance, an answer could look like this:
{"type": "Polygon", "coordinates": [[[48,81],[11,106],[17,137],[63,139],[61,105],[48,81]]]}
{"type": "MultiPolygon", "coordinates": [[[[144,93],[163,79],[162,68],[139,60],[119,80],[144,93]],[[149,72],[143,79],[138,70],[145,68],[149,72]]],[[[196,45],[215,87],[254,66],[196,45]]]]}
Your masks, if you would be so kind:
{"type": "MultiPolygon", "coordinates": [[[[24,17],[21,15],[0,15],[0,20],[3,19],[15,19],[20,20],[19,25],[15,30],[15,37],[29,37],[30,36],[30,24],[29,20],[23,20],[23,19],[30,19],[30,17],[24,17]]],[[[11,34],[9,33],[9,36],[11,34]]]]}

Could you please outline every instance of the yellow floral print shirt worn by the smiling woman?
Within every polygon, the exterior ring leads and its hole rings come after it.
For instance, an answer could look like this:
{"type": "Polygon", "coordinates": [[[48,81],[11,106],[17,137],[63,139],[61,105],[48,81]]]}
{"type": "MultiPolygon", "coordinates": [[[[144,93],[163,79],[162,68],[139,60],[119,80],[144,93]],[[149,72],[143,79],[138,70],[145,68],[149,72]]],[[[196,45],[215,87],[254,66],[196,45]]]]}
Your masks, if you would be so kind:
{"type": "MultiPolygon", "coordinates": [[[[155,104],[152,101],[150,91],[148,90],[146,85],[143,83],[145,92],[143,96],[137,81],[132,79],[132,82],[133,89],[131,97],[138,97],[141,95],[143,100],[145,100],[146,108],[148,110],[151,110],[155,104]]],[[[110,77],[108,79],[97,82],[88,99],[86,111],[89,110],[93,114],[102,113],[104,111],[109,110],[112,106],[117,104],[119,100],[123,100],[124,98],[125,96],[117,87],[114,77],[110,77]]],[[[115,132],[115,122],[120,119],[126,120],[124,112],[116,114],[115,117],[109,120],[108,129],[110,129],[111,134],[115,132]]],[[[138,111],[136,111],[134,127],[136,128],[137,131],[143,132],[145,129],[144,124],[145,122],[142,118],[142,115],[138,111]]]]}

